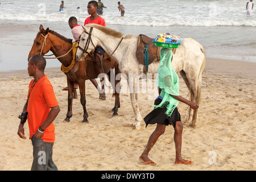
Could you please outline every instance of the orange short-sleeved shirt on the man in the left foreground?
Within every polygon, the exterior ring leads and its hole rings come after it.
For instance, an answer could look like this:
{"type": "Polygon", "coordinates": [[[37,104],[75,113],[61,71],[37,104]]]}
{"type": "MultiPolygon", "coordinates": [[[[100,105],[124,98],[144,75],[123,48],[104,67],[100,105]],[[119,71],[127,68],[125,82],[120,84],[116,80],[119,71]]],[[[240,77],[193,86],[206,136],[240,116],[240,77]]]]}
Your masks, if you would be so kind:
{"type": "MultiPolygon", "coordinates": [[[[39,126],[46,120],[51,107],[59,105],[47,75],[41,77],[35,84],[33,82],[34,79],[31,80],[28,89],[28,95],[30,94],[30,97],[28,98],[27,105],[27,120],[30,129],[30,139],[36,133],[39,126]]],[[[55,127],[53,123],[44,130],[42,139],[43,142],[52,143],[55,141],[55,127]]]]}

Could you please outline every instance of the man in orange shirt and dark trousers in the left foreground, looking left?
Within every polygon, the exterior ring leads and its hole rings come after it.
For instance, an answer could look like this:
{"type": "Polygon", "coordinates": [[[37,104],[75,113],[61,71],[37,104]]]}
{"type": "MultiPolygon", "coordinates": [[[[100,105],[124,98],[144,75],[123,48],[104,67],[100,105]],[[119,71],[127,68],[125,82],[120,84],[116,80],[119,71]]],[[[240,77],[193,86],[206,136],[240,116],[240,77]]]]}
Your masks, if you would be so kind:
{"type": "MultiPolygon", "coordinates": [[[[57,170],[52,161],[52,147],[55,141],[54,119],[60,112],[59,104],[47,75],[44,75],[46,59],[35,55],[28,61],[28,75],[34,77],[28,89],[27,103],[24,111],[27,111],[30,139],[33,145],[34,160],[31,170],[57,170]]],[[[20,118],[20,117],[19,117],[20,118]]],[[[20,121],[18,135],[26,139],[24,135],[24,122],[20,121]]]]}

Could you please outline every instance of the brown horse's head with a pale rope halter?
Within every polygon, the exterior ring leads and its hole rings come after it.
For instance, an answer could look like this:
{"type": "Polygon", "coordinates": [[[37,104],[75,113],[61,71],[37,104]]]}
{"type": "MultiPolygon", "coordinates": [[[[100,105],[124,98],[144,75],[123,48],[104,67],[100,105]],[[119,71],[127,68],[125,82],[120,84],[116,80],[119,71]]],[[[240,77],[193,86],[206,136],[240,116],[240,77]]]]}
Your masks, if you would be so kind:
{"type": "Polygon", "coordinates": [[[30,59],[31,56],[34,56],[34,55],[45,55],[51,49],[51,45],[47,43],[49,28],[44,30],[44,27],[41,24],[39,27],[39,30],[40,31],[36,35],[36,38],[34,40],[34,44],[30,50],[30,53],[28,54],[28,60],[30,59]]]}

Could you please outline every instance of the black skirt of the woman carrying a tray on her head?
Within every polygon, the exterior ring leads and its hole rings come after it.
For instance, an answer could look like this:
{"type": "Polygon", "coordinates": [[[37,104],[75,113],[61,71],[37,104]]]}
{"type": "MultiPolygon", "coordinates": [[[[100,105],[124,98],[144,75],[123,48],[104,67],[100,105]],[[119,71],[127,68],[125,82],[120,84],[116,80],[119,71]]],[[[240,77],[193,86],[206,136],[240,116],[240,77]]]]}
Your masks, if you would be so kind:
{"type": "MultiPolygon", "coordinates": [[[[159,105],[162,102],[160,98],[156,98],[155,105],[159,105]]],[[[174,125],[176,126],[176,121],[180,121],[180,113],[175,107],[174,111],[171,114],[171,117],[166,115],[166,107],[157,107],[156,109],[152,110],[149,114],[144,117],[144,122],[146,123],[146,127],[148,124],[155,124],[158,123],[160,125],[174,125]]]]}

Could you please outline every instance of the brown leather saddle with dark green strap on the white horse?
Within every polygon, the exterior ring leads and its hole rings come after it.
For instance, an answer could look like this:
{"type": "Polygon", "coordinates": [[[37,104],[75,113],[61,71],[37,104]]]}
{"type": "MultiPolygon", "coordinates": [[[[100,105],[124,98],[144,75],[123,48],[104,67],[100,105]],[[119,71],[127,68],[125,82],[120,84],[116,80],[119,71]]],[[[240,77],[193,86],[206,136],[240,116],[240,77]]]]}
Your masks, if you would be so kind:
{"type": "Polygon", "coordinates": [[[140,64],[145,65],[145,71],[147,72],[148,65],[150,65],[155,59],[160,60],[159,50],[160,47],[156,47],[152,43],[154,39],[149,38],[147,35],[140,34],[138,39],[136,57],[140,64]]]}

